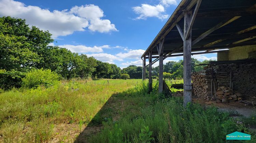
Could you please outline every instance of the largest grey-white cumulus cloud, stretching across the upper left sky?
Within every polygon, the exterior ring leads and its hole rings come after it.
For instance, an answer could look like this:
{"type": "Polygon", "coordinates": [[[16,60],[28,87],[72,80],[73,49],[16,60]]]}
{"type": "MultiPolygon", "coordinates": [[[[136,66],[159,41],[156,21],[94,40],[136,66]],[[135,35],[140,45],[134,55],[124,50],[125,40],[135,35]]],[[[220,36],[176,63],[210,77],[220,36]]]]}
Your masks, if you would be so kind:
{"type": "Polygon", "coordinates": [[[70,10],[49,11],[14,0],[0,0],[0,16],[26,19],[30,26],[48,30],[53,34],[53,38],[75,31],[85,31],[87,27],[91,31],[101,33],[118,31],[110,20],[102,19],[103,11],[93,4],[74,6],[70,10]]]}

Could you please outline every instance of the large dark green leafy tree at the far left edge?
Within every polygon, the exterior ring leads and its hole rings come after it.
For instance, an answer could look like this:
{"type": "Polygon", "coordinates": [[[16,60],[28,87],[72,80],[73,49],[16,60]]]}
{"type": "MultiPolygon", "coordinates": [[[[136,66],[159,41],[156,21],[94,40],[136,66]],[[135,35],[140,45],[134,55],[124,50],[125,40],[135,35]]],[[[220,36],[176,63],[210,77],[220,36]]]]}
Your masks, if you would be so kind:
{"type": "Polygon", "coordinates": [[[25,20],[0,18],[0,88],[20,87],[25,73],[40,62],[40,49],[53,42],[48,31],[29,28],[25,20]]]}

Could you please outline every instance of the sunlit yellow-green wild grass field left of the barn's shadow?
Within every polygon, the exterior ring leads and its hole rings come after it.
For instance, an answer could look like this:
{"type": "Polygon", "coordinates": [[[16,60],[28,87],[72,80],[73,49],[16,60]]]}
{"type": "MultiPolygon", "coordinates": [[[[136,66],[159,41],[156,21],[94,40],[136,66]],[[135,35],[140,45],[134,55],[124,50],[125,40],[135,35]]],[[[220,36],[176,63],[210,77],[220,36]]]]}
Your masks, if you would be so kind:
{"type": "Polygon", "coordinates": [[[112,94],[141,80],[71,80],[0,94],[0,142],[49,142],[58,124],[87,125],[112,94]]]}

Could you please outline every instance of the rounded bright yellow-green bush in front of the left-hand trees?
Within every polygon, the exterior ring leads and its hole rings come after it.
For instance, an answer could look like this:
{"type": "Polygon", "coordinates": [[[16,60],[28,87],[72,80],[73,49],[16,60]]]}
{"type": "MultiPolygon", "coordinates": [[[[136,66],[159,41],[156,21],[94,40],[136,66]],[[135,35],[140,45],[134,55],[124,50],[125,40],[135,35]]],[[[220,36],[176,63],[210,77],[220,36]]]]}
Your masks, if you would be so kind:
{"type": "Polygon", "coordinates": [[[60,76],[50,69],[34,69],[28,72],[26,77],[22,79],[22,86],[24,88],[37,88],[38,86],[43,85],[48,88],[59,79],[60,76]]]}

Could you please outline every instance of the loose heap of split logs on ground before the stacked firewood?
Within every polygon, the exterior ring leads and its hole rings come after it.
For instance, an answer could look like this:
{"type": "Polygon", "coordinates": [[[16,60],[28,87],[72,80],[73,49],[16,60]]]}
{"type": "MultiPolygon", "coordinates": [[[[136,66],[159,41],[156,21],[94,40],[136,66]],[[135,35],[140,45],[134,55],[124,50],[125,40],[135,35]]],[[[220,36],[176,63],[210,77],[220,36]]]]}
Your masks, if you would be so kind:
{"type": "MultiPolygon", "coordinates": [[[[234,92],[233,89],[227,87],[227,86],[221,86],[217,89],[216,93],[216,98],[217,102],[235,102],[238,100],[242,100],[243,96],[240,92],[234,92]]],[[[216,100],[215,97],[212,97],[211,100],[216,100]]]]}

